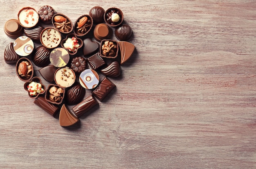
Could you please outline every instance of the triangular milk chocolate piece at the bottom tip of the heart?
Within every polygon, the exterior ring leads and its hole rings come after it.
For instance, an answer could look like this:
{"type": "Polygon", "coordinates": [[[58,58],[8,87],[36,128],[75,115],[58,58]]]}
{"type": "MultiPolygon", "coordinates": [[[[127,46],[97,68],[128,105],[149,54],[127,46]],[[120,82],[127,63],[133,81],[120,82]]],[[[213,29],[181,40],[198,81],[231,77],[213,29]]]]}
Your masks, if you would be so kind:
{"type": "Polygon", "coordinates": [[[65,104],[62,105],[59,115],[61,127],[69,127],[79,122],[79,118],[69,111],[65,104]]]}

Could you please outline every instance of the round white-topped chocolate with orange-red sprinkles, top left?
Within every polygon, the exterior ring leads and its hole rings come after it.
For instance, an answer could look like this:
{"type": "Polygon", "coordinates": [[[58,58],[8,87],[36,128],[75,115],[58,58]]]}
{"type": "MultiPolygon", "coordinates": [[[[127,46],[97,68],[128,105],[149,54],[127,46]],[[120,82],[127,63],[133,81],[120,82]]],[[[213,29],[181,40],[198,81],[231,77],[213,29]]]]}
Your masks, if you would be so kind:
{"type": "Polygon", "coordinates": [[[34,8],[25,7],[20,9],[18,13],[18,20],[22,27],[31,28],[38,23],[39,16],[34,8]]]}

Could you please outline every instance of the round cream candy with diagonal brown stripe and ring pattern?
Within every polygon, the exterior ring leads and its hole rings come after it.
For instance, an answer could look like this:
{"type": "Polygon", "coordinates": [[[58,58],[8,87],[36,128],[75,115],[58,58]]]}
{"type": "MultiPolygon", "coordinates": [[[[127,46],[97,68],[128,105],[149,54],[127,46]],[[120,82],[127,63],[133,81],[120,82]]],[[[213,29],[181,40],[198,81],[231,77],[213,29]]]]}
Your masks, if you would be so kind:
{"type": "Polygon", "coordinates": [[[20,36],[14,41],[13,49],[19,56],[29,56],[34,50],[34,42],[27,36],[20,36]]]}

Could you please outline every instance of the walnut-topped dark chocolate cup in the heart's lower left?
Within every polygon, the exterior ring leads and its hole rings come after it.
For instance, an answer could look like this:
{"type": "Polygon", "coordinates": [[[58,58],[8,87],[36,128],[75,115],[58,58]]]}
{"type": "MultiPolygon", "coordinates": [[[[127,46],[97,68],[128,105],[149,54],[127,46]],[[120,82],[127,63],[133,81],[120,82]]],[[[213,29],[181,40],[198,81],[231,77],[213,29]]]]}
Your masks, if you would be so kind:
{"type": "Polygon", "coordinates": [[[45,100],[47,100],[47,102],[59,105],[62,103],[64,96],[65,96],[65,89],[63,87],[60,87],[59,85],[54,85],[54,84],[48,85],[47,90],[45,92],[45,100]],[[52,87],[56,87],[55,89],[57,90],[53,89],[52,87]],[[59,88],[61,88],[61,90],[59,88]]]}

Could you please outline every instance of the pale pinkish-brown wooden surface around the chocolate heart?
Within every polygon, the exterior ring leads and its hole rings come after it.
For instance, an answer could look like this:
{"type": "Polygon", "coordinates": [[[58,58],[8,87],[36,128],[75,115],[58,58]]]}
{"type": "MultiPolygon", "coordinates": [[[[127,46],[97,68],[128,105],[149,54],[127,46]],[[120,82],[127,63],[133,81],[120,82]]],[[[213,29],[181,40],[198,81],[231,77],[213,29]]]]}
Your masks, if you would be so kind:
{"type": "Polygon", "coordinates": [[[256,168],[254,0],[0,2],[1,169],[256,168]],[[110,78],[117,88],[70,128],[36,106],[4,62],[14,42],[5,22],[43,5],[72,22],[118,7],[133,30],[136,51],[110,78]]]}

